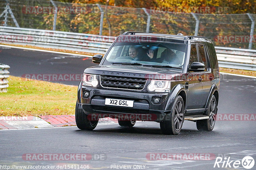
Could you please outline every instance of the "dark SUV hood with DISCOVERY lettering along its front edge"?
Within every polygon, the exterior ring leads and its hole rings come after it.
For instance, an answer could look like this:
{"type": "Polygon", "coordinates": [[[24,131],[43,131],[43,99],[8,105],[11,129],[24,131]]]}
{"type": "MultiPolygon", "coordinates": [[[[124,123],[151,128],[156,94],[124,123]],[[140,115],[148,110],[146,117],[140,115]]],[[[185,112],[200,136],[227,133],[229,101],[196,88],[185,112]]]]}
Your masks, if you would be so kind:
{"type": "MultiPolygon", "coordinates": [[[[88,67],[84,70],[87,74],[115,75],[125,77],[150,78],[150,75],[181,75],[181,71],[163,67],[147,67],[134,65],[102,65],[88,67]]],[[[170,78],[170,77],[169,77],[170,78]]],[[[168,78],[168,79],[169,79],[168,78]]]]}

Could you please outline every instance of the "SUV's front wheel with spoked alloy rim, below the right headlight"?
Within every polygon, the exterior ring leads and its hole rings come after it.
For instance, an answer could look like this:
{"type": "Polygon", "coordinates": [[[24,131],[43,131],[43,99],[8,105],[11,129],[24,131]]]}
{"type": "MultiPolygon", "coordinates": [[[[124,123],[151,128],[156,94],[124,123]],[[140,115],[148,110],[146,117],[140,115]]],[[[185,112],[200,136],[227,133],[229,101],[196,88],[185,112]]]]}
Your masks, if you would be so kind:
{"type": "Polygon", "coordinates": [[[160,122],[162,133],[165,135],[178,135],[182,128],[184,117],[184,102],[182,97],[178,96],[173,103],[172,111],[165,115],[168,120],[160,122]]]}

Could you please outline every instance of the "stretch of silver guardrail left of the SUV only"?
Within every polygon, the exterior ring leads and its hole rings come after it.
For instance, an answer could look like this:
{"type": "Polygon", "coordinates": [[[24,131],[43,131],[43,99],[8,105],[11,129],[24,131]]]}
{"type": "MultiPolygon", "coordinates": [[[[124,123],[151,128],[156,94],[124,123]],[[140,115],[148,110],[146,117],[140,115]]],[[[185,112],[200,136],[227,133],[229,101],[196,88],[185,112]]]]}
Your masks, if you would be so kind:
{"type": "Polygon", "coordinates": [[[2,44],[105,54],[116,37],[0,26],[2,44]]]}

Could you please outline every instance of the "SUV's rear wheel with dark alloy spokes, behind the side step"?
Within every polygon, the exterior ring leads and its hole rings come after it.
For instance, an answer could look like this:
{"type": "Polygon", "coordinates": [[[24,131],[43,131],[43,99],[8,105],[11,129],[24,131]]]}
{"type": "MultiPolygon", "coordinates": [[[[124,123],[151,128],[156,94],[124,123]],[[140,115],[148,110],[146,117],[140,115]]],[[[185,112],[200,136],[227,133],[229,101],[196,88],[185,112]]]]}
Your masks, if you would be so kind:
{"type": "Polygon", "coordinates": [[[198,131],[212,131],[215,125],[215,117],[217,114],[217,102],[214,95],[212,95],[211,101],[208,105],[206,115],[209,119],[197,120],[196,128],[198,131]]]}

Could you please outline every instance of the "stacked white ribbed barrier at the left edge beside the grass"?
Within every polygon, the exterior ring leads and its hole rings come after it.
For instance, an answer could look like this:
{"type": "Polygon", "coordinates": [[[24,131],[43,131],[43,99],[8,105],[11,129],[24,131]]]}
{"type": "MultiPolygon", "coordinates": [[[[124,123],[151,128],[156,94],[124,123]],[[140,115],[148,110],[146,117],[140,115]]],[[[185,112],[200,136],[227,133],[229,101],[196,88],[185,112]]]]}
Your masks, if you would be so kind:
{"type": "Polygon", "coordinates": [[[7,78],[10,72],[8,68],[10,68],[10,66],[0,63],[0,92],[7,92],[7,88],[9,87],[7,78]]]}

